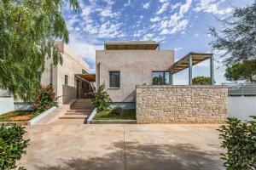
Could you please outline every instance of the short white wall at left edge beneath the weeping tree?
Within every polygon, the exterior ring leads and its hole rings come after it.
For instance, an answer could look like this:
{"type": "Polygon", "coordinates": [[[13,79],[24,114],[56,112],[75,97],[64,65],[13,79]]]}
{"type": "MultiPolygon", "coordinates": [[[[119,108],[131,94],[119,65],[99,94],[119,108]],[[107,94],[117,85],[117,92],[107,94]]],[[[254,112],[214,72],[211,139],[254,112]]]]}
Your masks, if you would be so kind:
{"type": "Polygon", "coordinates": [[[0,97],[0,115],[9,111],[15,111],[13,97],[0,97]]]}

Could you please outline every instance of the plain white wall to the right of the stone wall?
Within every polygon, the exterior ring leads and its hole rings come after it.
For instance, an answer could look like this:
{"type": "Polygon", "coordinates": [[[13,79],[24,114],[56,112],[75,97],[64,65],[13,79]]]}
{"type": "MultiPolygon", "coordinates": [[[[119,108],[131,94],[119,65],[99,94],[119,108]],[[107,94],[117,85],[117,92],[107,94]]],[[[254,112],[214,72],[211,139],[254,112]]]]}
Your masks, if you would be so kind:
{"type": "Polygon", "coordinates": [[[229,96],[229,117],[252,120],[249,116],[256,116],[256,96],[229,96]]]}

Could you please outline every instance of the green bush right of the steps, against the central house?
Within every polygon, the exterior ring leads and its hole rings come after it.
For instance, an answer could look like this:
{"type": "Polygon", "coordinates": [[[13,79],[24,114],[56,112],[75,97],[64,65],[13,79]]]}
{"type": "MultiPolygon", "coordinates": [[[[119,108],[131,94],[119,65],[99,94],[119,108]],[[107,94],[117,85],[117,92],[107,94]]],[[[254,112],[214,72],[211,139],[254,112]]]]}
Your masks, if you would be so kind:
{"type": "Polygon", "coordinates": [[[112,99],[110,99],[108,93],[104,90],[105,85],[99,87],[99,89],[91,94],[91,102],[96,106],[97,112],[99,111],[108,111],[109,106],[112,103],[112,99]]]}

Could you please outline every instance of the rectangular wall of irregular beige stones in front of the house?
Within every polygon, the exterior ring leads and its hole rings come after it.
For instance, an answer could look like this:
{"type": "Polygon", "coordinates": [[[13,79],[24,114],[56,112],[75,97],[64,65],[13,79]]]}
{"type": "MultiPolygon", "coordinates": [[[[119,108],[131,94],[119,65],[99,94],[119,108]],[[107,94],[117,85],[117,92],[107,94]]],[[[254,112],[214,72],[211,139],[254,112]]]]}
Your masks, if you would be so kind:
{"type": "Polygon", "coordinates": [[[223,123],[226,86],[137,86],[138,123],[223,123]]]}

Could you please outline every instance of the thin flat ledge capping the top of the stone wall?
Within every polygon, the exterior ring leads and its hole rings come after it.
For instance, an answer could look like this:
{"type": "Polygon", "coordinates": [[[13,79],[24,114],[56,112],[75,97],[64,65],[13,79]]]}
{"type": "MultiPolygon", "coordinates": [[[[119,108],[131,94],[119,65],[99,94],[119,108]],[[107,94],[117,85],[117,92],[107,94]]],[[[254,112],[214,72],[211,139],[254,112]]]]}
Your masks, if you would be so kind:
{"type": "Polygon", "coordinates": [[[136,88],[228,88],[227,85],[137,85],[136,88]]]}

